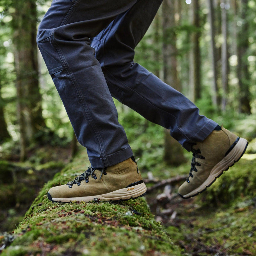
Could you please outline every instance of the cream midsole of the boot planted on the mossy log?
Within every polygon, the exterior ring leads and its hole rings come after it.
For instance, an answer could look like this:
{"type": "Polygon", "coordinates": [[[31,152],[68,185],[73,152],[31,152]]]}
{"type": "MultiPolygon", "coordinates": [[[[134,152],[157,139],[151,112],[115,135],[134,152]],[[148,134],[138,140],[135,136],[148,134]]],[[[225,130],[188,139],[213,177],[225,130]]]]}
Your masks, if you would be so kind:
{"type": "Polygon", "coordinates": [[[52,198],[53,201],[70,203],[72,201],[83,201],[89,202],[94,200],[94,198],[99,198],[100,201],[118,201],[127,200],[130,198],[136,198],[143,195],[147,191],[145,183],[141,183],[129,188],[121,188],[110,193],[94,196],[80,196],[80,197],[69,197],[69,198],[52,198]]]}

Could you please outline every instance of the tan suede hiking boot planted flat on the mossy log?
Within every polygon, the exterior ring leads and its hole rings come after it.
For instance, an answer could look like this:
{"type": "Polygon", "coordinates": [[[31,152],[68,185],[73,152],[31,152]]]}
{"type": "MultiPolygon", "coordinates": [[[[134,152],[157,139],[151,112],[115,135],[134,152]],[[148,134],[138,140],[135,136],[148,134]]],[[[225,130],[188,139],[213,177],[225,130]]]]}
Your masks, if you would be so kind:
{"type": "Polygon", "coordinates": [[[53,202],[123,201],[146,194],[134,157],[103,169],[89,167],[66,185],[53,187],[48,192],[53,202]]]}

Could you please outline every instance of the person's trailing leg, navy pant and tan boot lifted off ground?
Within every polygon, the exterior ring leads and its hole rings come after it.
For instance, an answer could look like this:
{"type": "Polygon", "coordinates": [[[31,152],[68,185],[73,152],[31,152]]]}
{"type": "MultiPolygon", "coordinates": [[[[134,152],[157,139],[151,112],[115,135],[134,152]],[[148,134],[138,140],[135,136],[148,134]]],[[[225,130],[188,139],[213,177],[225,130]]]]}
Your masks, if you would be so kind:
{"type": "Polygon", "coordinates": [[[148,6],[146,0],[139,0],[94,37],[92,47],[112,96],[148,120],[171,129],[171,135],[192,150],[189,177],[179,188],[179,194],[189,198],[204,191],[237,162],[248,142],[200,116],[198,108],[184,95],[133,62],[134,48],[160,4],[154,1],[148,6]]]}

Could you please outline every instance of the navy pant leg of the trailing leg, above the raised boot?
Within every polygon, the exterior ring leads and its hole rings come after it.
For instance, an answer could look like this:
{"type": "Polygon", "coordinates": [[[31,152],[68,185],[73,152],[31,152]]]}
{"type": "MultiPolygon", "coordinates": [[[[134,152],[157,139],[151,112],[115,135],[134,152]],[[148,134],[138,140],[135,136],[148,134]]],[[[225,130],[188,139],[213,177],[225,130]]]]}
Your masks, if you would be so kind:
{"type": "Polygon", "coordinates": [[[173,138],[190,150],[192,141],[204,140],[217,123],[199,115],[183,94],[133,62],[134,48],[146,33],[162,0],[139,0],[93,38],[113,97],[149,121],[171,130],[173,138]]]}

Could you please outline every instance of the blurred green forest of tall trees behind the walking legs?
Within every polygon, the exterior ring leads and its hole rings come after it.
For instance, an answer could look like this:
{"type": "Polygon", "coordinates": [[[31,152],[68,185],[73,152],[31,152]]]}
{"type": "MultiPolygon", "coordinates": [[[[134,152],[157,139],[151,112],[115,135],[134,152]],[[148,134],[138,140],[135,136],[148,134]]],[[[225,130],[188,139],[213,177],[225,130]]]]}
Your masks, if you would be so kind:
{"type": "MultiPolygon", "coordinates": [[[[36,45],[37,26],[50,4],[0,1],[1,230],[15,227],[17,213],[24,213],[44,182],[79,149],[36,45]]],[[[135,56],[195,102],[200,114],[249,140],[251,154],[256,153],[255,13],[255,0],[164,0],[135,56]]],[[[168,131],[115,103],[142,172],[154,169],[165,179],[166,166],[184,163],[184,174],[189,172],[190,154],[168,131]]]]}

